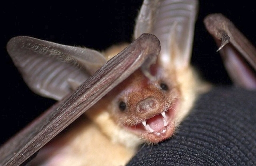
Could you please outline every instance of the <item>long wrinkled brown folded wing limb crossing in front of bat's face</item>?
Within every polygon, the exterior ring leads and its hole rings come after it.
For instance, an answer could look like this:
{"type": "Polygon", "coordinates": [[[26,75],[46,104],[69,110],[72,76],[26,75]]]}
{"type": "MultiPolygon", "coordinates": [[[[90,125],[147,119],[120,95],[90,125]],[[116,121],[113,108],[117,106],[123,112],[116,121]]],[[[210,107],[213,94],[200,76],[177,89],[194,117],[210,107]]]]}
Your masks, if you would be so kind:
{"type": "Polygon", "coordinates": [[[160,52],[159,40],[141,35],[121,53],[107,61],[71,96],[53,105],[0,149],[0,165],[20,165],[77,119],[119,82],[160,52]]]}

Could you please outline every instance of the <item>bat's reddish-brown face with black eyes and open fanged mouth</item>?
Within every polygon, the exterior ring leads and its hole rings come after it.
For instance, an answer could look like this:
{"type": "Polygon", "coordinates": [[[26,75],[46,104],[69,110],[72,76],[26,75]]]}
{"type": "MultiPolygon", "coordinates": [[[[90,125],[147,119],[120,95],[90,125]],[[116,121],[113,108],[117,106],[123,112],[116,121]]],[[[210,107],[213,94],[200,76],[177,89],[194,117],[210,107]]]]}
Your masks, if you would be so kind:
{"type": "Polygon", "coordinates": [[[108,110],[114,121],[150,143],[173,135],[180,98],[175,79],[156,69],[151,68],[150,78],[138,69],[107,95],[112,98],[108,110]]]}

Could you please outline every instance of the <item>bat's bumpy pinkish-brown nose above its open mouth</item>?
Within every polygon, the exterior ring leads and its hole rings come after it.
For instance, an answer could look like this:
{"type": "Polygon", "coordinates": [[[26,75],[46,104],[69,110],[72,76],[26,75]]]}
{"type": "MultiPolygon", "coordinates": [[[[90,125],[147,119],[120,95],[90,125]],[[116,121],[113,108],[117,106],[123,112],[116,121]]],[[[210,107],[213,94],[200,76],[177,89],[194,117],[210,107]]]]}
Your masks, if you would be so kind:
{"type": "Polygon", "coordinates": [[[154,97],[148,97],[140,101],[137,106],[136,110],[139,113],[146,113],[149,111],[154,111],[157,109],[157,100],[154,97]]]}

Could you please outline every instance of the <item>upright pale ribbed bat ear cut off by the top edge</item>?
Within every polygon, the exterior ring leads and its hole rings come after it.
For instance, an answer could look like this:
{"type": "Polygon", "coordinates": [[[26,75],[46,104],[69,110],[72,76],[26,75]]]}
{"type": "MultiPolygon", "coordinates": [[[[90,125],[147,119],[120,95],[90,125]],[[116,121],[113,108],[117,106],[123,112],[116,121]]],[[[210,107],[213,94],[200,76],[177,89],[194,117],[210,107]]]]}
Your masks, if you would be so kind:
{"type": "Polygon", "coordinates": [[[134,38],[154,34],[161,42],[161,65],[178,69],[189,65],[197,15],[195,0],[145,0],[134,30],[134,38]]]}

